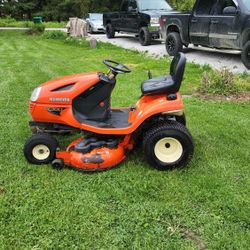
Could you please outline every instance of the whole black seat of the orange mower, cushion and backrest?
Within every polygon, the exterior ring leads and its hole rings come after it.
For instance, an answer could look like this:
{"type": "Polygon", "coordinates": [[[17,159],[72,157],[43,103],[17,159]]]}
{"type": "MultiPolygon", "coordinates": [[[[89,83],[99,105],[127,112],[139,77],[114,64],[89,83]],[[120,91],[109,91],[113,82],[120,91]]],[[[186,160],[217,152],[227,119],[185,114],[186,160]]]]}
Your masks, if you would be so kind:
{"type": "Polygon", "coordinates": [[[143,95],[175,94],[181,87],[185,72],[186,57],[178,53],[171,62],[170,75],[152,78],[142,82],[143,95]]]}

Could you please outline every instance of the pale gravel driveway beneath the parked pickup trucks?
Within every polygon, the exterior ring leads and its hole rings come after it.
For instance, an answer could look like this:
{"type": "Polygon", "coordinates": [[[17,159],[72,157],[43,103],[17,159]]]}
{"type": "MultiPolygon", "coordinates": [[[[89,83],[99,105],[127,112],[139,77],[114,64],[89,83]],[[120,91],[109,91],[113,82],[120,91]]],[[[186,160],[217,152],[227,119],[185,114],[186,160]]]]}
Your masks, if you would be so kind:
{"type": "MultiPolygon", "coordinates": [[[[138,42],[138,39],[131,35],[116,35],[114,39],[107,39],[104,34],[94,34],[90,35],[95,39],[102,42],[109,42],[120,46],[126,49],[135,49],[142,52],[148,52],[150,55],[156,57],[162,57],[167,55],[165,45],[160,41],[155,41],[151,46],[141,46],[138,42]]],[[[227,50],[215,50],[202,47],[193,47],[184,50],[188,61],[194,62],[197,64],[209,64],[212,68],[222,68],[227,67],[234,73],[243,73],[248,72],[249,70],[241,62],[240,52],[239,51],[227,51],[227,50]]]]}

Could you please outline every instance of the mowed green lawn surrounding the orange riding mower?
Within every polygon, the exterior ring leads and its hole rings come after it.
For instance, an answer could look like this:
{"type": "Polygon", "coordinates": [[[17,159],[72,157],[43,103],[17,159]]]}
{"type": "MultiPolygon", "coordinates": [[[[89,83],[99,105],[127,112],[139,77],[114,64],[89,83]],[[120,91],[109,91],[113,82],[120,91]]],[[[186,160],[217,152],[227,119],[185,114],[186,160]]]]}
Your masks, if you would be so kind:
{"type": "MultiPolygon", "coordinates": [[[[116,106],[137,100],[148,69],[156,76],[169,67],[111,45],[91,50],[0,33],[0,249],[249,249],[249,102],[185,100],[196,145],[185,169],[154,170],[140,149],[99,174],[25,161],[32,90],[50,78],[105,70],[105,58],[133,68],[119,76],[116,106]]],[[[192,93],[201,74],[188,64],[182,92],[192,93]]]]}

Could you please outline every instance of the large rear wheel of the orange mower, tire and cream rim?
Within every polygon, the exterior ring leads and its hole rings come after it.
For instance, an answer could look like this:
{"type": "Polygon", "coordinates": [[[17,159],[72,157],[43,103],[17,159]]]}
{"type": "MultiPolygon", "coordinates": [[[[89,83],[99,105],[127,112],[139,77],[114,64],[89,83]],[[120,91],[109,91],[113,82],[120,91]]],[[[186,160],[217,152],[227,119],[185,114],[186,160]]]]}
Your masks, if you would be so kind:
{"type": "Polygon", "coordinates": [[[143,149],[148,163],[158,170],[185,166],[194,144],[188,129],[175,121],[162,122],[146,132],[143,149]]]}

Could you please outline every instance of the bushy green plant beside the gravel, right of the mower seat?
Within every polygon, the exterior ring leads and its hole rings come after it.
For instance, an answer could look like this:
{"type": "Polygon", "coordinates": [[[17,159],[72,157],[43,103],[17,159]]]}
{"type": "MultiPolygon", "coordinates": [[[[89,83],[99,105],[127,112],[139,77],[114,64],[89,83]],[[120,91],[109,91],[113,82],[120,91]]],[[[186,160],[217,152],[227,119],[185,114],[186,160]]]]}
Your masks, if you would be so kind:
{"type": "Polygon", "coordinates": [[[211,70],[204,72],[199,87],[199,92],[203,95],[224,95],[237,94],[239,87],[236,85],[235,76],[228,69],[211,70]]]}

